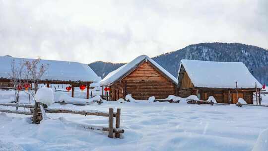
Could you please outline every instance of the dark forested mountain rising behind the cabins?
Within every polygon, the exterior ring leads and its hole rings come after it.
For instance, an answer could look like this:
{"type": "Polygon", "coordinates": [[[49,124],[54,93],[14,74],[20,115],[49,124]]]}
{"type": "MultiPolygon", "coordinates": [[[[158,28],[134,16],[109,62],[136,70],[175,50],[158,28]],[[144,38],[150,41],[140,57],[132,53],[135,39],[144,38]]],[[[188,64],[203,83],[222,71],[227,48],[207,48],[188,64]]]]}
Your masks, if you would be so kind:
{"type": "MultiPolygon", "coordinates": [[[[152,59],[176,77],[181,59],[243,62],[261,83],[268,83],[268,50],[257,46],[239,43],[200,43],[152,59]]],[[[92,70],[102,77],[123,65],[100,61],[89,64],[92,70]]]]}

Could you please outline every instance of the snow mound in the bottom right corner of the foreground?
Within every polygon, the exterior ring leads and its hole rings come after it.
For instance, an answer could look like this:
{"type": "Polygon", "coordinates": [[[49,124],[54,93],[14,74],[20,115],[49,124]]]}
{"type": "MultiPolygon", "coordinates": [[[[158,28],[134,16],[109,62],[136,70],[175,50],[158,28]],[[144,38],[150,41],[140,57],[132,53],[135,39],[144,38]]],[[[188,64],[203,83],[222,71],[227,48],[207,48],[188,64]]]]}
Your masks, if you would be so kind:
{"type": "Polygon", "coordinates": [[[261,132],[252,151],[268,151],[268,129],[261,132]]]}

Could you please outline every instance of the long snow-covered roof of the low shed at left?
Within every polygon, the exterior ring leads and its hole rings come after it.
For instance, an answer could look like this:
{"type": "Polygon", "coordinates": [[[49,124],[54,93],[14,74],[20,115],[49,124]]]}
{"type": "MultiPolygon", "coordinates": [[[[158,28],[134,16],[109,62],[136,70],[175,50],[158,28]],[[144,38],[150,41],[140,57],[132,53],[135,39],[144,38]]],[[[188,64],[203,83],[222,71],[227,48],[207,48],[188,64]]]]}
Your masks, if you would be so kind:
{"type": "MultiPolygon", "coordinates": [[[[13,58],[11,56],[0,57],[0,78],[9,78],[11,72],[11,62],[15,64],[33,59],[13,58]]],[[[40,64],[48,65],[48,71],[41,77],[42,80],[61,81],[100,81],[101,77],[86,64],[67,61],[41,60],[40,64]]]]}

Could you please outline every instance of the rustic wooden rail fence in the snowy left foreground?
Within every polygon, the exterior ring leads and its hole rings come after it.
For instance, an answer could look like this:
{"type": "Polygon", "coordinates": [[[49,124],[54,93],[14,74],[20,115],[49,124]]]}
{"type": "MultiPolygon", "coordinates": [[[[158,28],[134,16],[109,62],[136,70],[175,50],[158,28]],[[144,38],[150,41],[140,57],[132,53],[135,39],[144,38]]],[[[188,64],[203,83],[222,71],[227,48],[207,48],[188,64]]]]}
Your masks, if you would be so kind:
{"type": "MultiPolygon", "coordinates": [[[[43,119],[42,111],[40,106],[43,106],[42,103],[36,102],[34,105],[29,104],[12,104],[12,103],[0,103],[0,106],[12,106],[12,107],[23,107],[30,108],[30,111],[14,111],[14,110],[6,110],[0,109],[0,112],[6,113],[16,113],[16,114],[24,114],[24,115],[32,115],[32,123],[39,124],[43,119]]],[[[99,112],[99,111],[74,111],[74,110],[66,110],[66,109],[45,109],[46,113],[69,113],[69,114],[80,114],[80,115],[94,115],[94,116],[103,116],[108,117],[108,127],[98,127],[98,126],[85,126],[85,129],[88,130],[99,130],[108,132],[109,138],[120,138],[120,134],[124,133],[123,129],[120,129],[120,116],[121,109],[118,108],[117,112],[114,112],[113,108],[109,108],[109,112],[99,112]],[[114,128],[114,118],[116,118],[115,128],[114,128]]]]}

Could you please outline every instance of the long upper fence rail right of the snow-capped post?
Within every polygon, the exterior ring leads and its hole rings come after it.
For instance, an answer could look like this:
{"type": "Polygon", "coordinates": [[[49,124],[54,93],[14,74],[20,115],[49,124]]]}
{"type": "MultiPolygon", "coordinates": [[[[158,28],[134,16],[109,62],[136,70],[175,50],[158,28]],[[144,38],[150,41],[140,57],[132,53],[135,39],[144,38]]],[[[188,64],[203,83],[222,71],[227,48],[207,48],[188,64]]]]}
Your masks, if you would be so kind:
{"type": "MultiPolygon", "coordinates": [[[[109,113],[104,112],[87,112],[87,111],[73,111],[65,109],[45,109],[46,113],[70,113],[70,114],[80,114],[80,115],[95,115],[95,116],[104,116],[109,117],[109,113]]],[[[116,116],[116,113],[112,114],[113,117],[116,116]]]]}

